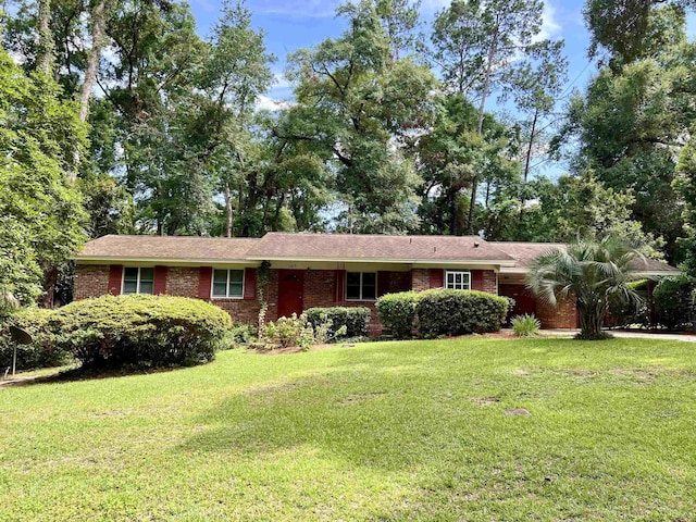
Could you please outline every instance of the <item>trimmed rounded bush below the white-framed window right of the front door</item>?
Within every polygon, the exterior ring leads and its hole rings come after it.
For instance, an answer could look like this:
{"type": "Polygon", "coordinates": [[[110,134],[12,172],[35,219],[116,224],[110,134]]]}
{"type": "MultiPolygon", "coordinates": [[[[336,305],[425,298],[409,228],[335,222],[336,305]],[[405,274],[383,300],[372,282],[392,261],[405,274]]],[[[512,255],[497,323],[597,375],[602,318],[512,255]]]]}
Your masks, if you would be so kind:
{"type": "Polygon", "coordinates": [[[415,307],[421,337],[498,332],[508,300],[477,290],[425,290],[415,307]]]}

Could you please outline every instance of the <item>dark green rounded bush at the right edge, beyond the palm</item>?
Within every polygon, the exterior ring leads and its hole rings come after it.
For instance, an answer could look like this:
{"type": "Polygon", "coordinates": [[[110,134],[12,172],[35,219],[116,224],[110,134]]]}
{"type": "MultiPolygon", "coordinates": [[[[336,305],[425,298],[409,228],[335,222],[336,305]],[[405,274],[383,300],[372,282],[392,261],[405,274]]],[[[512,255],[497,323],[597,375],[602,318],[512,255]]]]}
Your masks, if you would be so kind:
{"type": "Polygon", "coordinates": [[[696,320],[696,279],[666,277],[655,288],[657,321],[670,330],[693,328],[696,320]]]}

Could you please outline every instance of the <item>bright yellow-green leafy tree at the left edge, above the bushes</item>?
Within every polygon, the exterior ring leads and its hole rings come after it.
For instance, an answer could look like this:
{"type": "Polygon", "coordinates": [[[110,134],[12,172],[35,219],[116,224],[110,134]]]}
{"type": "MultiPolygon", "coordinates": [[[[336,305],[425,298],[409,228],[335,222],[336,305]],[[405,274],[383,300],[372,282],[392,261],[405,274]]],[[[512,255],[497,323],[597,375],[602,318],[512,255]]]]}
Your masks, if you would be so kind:
{"type": "Polygon", "coordinates": [[[25,73],[0,48],[0,295],[52,304],[58,266],[85,240],[79,194],[67,184],[86,145],[74,103],[44,72],[25,73]]]}

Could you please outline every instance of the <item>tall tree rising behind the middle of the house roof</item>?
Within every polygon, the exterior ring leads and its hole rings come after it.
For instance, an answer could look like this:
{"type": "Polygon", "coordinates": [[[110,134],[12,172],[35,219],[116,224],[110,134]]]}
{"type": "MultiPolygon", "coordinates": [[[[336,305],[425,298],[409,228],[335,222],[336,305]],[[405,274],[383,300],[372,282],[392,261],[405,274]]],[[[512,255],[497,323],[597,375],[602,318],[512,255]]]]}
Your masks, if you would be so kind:
{"type": "Polygon", "coordinates": [[[350,232],[406,232],[415,226],[418,176],[401,145],[430,113],[433,74],[407,58],[394,60],[378,2],[338,11],[348,29],[290,59],[303,122],[295,141],[321,148],[335,172],[339,227],[350,232]]]}

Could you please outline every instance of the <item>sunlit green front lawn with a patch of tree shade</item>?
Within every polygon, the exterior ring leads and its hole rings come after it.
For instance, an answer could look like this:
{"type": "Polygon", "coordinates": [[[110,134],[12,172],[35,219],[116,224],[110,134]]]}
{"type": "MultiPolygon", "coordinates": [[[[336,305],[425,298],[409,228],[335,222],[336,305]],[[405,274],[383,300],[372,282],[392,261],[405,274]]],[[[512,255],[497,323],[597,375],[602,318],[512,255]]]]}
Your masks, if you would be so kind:
{"type": "Polygon", "coordinates": [[[232,351],[0,389],[0,520],[692,520],[695,348],[232,351]]]}

